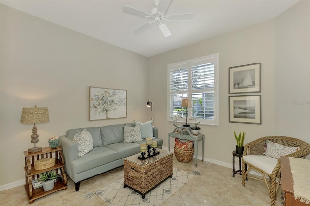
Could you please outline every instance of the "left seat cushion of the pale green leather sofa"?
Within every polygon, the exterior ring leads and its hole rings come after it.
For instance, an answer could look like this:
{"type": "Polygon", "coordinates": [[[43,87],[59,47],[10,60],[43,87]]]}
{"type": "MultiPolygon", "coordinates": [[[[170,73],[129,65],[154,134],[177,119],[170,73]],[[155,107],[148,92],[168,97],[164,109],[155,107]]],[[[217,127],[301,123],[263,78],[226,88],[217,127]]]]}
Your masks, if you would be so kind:
{"type": "Polygon", "coordinates": [[[95,147],[89,153],[71,162],[73,174],[78,174],[95,167],[117,160],[116,151],[106,147],[95,147]]]}

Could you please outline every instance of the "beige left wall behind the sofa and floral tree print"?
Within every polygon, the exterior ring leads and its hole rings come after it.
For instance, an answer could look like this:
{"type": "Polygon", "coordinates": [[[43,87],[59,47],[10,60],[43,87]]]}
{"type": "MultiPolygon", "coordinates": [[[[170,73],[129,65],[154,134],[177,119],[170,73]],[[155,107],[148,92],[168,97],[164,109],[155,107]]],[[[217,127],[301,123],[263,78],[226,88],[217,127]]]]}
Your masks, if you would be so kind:
{"type": "Polygon", "coordinates": [[[39,143],[70,128],[147,121],[147,58],[1,4],[0,185],[24,178],[33,125],[23,107],[48,107],[39,143]],[[127,118],[88,121],[88,87],[127,90],[127,118]]]}

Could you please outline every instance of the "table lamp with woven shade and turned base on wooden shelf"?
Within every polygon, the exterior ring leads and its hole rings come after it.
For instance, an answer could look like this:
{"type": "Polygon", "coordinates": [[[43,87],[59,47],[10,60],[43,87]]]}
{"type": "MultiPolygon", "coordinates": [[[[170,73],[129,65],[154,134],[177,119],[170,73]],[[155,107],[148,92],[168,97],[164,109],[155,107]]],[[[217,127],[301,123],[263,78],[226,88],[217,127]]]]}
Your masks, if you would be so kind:
{"type": "Polygon", "coordinates": [[[42,147],[36,147],[35,143],[39,142],[38,129],[35,127],[36,123],[44,123],[49,122],[48,109],[47,107],[24,107],[21,112],[20,123],[32,124],[34,123],[34,127],[32,128],[31,135],[31,143],[34,143],[34,147],[29,148],[28,152],[34,153],[38,151],[42,151],[42,147]]]}

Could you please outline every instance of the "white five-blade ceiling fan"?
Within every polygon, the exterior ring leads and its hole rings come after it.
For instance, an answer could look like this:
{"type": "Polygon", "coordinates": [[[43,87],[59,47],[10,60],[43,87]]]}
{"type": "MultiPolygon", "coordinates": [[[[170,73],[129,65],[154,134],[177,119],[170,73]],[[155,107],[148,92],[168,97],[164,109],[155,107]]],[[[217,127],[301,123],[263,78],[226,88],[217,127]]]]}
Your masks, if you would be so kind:
{"type": "Polygon", "coordinates": [[[160,31],[164,34],[165,37],[171,35],[168,27],[164,23],[165,21],[192,21],[194,19],[194,14],[176,14],[176,15],[166,15],[168,7],[170,6],[172,0],[154,0],[153,5],[155,6],[149,13],[141,11],[140,9],[136,9],[134,7],[124,5],[122,9],[126,12],[130,12],[132,14],[146,17],[151,19],[151,21],[143,24],[138,29],[134,30],[134,34],[139,34],[154,25],[154,23],[158,24],[160,31]]]}

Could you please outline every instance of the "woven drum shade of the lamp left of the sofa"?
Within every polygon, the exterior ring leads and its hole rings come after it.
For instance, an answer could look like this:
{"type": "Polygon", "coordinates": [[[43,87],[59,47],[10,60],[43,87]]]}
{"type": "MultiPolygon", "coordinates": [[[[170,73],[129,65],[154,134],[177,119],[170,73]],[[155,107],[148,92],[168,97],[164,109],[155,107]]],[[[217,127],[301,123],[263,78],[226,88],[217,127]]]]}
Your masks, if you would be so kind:
{"type": "Polygon", "coordinates": [[[20,118],[21,123],[43,123],[49,122],[47,107],[24,107],[20,118]]]}

